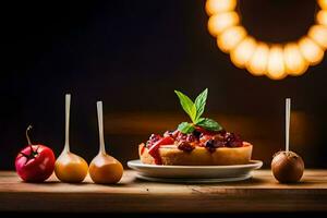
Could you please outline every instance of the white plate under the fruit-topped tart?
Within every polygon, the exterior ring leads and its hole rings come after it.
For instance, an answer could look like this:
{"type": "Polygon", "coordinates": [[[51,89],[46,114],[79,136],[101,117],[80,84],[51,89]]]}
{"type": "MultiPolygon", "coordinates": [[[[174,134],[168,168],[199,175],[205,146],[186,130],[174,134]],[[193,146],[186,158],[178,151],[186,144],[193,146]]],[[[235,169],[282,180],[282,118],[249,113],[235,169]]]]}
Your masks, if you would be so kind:
{"type": "Polygon", "coordinates": [[[160,182],[230,182],[251,178],[251,171],[263,166],[261,160],[232,166],[162,166],[131,160],[128,166],[137,171],[137,178],[160,182]]]}

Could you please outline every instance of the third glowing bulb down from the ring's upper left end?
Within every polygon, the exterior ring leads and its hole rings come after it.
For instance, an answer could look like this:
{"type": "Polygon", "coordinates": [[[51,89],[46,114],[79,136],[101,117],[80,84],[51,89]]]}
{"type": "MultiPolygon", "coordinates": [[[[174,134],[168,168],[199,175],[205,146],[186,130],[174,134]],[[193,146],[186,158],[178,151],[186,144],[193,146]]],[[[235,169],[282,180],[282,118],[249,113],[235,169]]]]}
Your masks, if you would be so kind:
{"type": "Polygon", "coordinates": [[[222,32],[217,38],[220,50],[228,52],[233,49],[244,37],[246,31],[242,26],[232,26],[222,32]]]}

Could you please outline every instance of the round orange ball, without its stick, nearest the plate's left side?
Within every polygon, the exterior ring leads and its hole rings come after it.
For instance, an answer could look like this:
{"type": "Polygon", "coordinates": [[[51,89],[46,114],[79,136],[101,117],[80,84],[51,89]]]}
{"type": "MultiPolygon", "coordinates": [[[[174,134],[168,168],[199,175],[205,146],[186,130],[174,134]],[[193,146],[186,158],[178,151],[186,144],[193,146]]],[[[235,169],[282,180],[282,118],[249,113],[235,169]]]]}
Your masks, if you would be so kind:
{"type": "Polygon", "coordinates": [[[123,167],[113,157],[99,154],[92,160],[88,172],[95,183],[114,184],[122,178],[123,167]]]}

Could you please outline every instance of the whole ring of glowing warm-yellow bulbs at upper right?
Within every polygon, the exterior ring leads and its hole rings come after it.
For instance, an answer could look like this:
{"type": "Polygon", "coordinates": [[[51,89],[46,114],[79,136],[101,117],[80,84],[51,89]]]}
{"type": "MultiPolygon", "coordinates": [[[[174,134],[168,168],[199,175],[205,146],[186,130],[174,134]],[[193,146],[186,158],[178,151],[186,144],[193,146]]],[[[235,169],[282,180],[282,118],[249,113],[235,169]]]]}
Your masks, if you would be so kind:
{"type": "Polygon", "coordinates": [[[317,0],[320,10],[316,23],[298,41],[267,44],[247,35],[235,11],[237,0],[207,0],[208,31],[231,61],[253,75],[281,80],[302,75],[319,63],[327,49],[327,0],[317,0]]]}

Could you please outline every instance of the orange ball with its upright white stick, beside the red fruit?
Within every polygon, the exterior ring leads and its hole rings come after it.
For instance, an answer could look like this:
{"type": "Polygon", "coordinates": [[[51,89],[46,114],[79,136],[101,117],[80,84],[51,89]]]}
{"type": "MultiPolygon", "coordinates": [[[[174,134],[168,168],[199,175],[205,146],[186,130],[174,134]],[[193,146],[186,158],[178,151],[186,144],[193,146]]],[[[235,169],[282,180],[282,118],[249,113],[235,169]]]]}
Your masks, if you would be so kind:
{"type": "Polygon", "coordinates": [[[87,162],[80,156],[70,152],[69,128],[70,128],[71,95],[65,95],[65,143],[61,155],[55,165],[55,173],[62,182],[78,183],[87,175],[87,162]]]}

